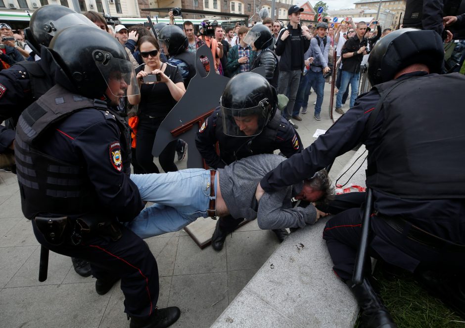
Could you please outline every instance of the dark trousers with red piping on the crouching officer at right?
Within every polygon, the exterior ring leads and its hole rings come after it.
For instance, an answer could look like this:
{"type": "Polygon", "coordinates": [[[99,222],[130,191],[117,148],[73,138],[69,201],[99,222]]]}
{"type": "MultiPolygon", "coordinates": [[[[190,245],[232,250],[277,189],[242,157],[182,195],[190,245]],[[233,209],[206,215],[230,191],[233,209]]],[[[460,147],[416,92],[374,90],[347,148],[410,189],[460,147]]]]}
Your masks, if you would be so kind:
{"type": "MultiPolygon", "coordinates": [[[[333,270],[343,280],[352,279],[360,244],[362,211],[352,208],[326,222],[326,240],[333,270]]],[[[417,268],[443,271],[465,270],[465,252],[447,247],[434,248],[414,241],[391,228],[382,218],[372,216],[368,254],[389,264],[415,272],[417,268]]],[[[367,261],[365,271],[369,272],[367,261]]]]}

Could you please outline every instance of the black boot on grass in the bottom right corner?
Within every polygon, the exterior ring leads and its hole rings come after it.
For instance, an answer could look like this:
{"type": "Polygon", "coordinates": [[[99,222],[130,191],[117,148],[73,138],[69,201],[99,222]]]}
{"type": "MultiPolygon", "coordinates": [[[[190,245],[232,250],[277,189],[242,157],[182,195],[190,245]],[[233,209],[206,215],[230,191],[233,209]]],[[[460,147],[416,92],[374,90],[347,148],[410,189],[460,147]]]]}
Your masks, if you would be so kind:
{"type": "Polygon", "coordinates": [[[454,312],[465,319],[465,282],[463,273],[440,273],[421,270],[415,279],[431,295],[439,298],[454,312]]]}

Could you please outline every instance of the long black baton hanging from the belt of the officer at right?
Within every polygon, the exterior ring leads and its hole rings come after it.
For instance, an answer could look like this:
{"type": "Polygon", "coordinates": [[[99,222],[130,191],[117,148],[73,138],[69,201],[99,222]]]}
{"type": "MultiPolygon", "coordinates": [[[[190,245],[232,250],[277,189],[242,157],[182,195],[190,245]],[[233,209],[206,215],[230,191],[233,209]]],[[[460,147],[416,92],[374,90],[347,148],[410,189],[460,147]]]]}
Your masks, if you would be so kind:
{"type": "Polygon", "coordinates": [[[362,236],[360,238],[360,245],[357,251],[357,257],[355,258],[354,275],[352,276],[352,282],[355,285],[360,285],[363,282],[363,272],[365,258],[367,256],[368,237],[370,233],[370,215],[372,214],[372,208],[373,193],[371,188],[367,188],[367,198],[365,200],[365,210],[363,212],[362,219],[362,236]]]}

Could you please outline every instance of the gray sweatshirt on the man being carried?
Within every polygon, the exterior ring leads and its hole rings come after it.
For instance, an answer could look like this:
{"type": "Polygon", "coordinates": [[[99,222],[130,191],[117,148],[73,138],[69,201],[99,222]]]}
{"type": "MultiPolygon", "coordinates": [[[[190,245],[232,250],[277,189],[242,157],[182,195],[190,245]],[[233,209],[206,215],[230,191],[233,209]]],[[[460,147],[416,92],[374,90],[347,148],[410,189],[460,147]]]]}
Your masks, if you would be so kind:
{"type": "Polygon", "coordinates": [[[284,160],[279,155],[261,154],[218,169],[221,195],[234,218],[257,218],[260,229],[296,228],[315,223],[317,212],[313,205],[291,206],[291,199],[300,193],[303,182],[265,193],[259,203],[255,199],[260,180],[284,160]]]}

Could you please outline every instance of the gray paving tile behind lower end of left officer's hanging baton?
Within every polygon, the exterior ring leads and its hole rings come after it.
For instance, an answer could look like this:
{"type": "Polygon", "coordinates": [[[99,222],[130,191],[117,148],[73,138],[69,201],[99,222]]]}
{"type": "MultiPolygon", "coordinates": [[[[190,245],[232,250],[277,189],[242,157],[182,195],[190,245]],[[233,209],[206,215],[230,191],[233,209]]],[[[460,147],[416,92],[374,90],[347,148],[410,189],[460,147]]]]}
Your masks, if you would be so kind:
{"type": "MultiPolygon", "coordinates": [[[[48,257],[47,280],[39,282],[39,262],[41,247],[37,247],[34,253],[21,266],[5,287],[25,287],[38,285],[58,285],[63,282],[72,267],[71,258],[50,251],[48,257]]],[[[72,270],[74,273],[74,270],[72,270]]],[[[74,273],[76,276],[78,274],[74,273]]],[[[82,277],[81,277],[82,278],[82,277]]],[[[83,282],[90,282],[85,280],[83,282]]]]}

